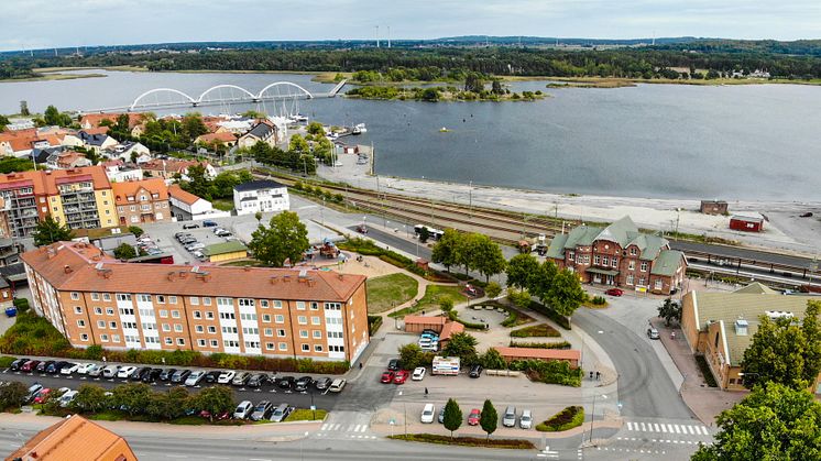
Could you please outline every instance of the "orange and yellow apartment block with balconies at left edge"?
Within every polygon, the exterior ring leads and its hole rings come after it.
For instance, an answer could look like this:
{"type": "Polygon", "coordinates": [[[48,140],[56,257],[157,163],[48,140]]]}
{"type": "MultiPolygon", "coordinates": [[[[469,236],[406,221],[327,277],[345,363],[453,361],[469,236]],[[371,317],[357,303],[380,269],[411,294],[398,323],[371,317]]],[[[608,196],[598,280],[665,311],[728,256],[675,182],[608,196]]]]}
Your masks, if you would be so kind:
{"type": "Polygon", "coordinates": [[[15,238],[31,235],[47,215],[72,229],[117,226],[111,183],[101,166],[1,175],[0,197],[10,201],[15,238]]]}

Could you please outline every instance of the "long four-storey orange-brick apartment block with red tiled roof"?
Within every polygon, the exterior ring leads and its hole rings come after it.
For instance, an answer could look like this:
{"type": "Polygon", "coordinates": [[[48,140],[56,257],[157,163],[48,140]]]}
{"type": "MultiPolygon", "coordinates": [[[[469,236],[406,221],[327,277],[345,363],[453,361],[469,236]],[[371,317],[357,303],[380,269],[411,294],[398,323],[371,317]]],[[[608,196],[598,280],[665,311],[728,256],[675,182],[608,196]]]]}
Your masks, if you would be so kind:
{"type": "Polygon", "coordinates": [[[360,275],[123,263],[81,242],[21,257],[35,311],[79,348],[353,362],[369,342],[360,275]]]}

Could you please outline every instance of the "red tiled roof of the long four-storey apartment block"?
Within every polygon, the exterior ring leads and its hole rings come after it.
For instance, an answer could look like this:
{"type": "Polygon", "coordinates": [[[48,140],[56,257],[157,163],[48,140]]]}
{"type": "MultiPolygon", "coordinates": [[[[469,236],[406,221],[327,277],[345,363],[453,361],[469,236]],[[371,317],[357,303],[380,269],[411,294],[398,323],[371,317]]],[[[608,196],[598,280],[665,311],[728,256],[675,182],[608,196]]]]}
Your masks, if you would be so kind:
{"type": "Polygon", "coordinates": [[[81,242],[57,242],[21,257],[56,289],[72,292],[346,303],[366,279],[316,270],[303,270],[305,277],[300,277],[298,268],[123,263],[81,242]],[[98,263],[103,263],[100,270],[98,263]]]}

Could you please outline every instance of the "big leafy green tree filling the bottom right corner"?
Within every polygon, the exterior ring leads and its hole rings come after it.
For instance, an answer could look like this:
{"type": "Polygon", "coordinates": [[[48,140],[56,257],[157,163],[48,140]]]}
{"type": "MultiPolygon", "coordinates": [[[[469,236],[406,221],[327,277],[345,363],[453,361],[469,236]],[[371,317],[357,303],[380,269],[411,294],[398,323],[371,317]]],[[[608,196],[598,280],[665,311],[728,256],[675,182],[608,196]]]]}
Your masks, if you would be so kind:
{"type": "Polygon", "coordinates": [[[700,446],[693,461],[821,459],[821,404],[804,389],[756,386],[716,424],[715,442],[700,446]]]}

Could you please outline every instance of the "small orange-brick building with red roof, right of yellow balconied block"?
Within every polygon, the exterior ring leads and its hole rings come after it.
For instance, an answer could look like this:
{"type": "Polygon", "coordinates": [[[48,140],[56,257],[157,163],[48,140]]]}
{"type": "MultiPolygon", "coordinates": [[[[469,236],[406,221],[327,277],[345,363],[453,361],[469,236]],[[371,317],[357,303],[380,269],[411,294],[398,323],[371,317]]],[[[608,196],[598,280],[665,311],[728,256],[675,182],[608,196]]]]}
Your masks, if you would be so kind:
{"type": "Polygon", "coordinates": [[[120,226],[171,221],[168,187],[163,179],[114,183],[111,187],[120,226]]]}

